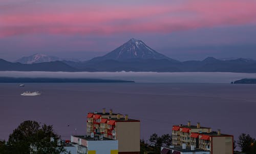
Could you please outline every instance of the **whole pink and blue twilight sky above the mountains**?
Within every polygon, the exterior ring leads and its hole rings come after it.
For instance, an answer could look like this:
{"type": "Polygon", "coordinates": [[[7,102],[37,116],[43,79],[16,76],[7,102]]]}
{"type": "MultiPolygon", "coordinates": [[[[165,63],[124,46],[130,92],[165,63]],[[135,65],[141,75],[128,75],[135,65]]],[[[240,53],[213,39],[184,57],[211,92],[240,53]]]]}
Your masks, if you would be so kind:
{"type": "Polygon", "coordinates": [[[256,59],[254,0],[1,0],[0,58],[88,60],[137,38],[177,60],[256,59]]]}

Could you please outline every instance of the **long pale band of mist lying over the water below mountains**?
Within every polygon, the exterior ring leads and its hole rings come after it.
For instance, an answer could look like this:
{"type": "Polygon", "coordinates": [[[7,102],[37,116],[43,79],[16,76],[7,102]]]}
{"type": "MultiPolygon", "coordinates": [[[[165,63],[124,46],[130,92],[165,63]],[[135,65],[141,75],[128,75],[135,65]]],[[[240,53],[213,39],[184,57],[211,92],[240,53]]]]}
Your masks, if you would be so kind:
{"type": "Polygon", "coordinates": [[[256,78],[256,73],[223,72],[19,72],[3,71],[0,77],[100,78],[153,83],[230,83],[242,78],[256,78]]]}

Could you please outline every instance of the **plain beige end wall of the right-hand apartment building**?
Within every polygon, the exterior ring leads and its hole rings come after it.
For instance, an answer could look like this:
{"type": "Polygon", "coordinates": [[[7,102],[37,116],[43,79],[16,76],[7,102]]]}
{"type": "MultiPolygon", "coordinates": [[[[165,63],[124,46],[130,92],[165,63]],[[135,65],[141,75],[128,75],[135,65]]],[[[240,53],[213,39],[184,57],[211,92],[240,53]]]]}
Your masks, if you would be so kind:
{"type": "Polygon", "coordinates": [[[212,154],[232,154],[233,137],[212,137],[212,154]]]}

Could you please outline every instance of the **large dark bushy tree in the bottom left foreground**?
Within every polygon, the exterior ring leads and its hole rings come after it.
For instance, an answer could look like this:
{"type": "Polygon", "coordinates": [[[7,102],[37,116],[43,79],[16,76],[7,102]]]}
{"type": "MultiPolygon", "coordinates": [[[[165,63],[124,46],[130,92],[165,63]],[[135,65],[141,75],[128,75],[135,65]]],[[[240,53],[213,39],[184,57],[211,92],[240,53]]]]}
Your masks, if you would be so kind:
{"type": "Polygon", "coordinates": [[[66,152],[58,143],[60,137],[54,133],[52,125],[40,126],[36,121],[24,121],[9,136],[8,153],[54,153],[66,152]]]}

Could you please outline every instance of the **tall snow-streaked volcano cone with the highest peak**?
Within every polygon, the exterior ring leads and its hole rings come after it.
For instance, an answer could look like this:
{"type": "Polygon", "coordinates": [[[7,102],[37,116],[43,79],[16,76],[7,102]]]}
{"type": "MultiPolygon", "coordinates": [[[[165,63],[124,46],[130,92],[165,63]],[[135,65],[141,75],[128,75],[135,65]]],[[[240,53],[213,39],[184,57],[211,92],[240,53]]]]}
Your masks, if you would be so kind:
{"type": "MultiPolygon", "coordinates": [[[[143,41],[132,38],[122,46],[113,50],[112,52],[102,56],[96,57],[92,60],[102,61],[102,60],[118,60],[125,61],[129,59],[171,59],[163,54],[156,52],[155,50],[148,47],[143,41]]],[[[176,60],[174,60],[176,61],[176,60]]]]}

